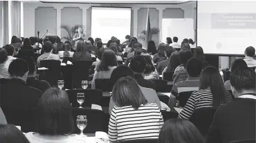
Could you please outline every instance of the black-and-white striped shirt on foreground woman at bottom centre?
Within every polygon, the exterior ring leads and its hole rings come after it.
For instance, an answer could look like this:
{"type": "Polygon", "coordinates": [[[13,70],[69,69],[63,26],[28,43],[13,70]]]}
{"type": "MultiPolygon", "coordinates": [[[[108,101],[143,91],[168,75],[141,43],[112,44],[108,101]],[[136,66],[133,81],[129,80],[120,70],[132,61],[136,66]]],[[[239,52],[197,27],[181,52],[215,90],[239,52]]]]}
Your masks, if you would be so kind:
{"type": "Polygon", "coordinates": [[[113,107],[109,120],[109,141],[158,138],[163,116],[157,104],[113,107]]]}

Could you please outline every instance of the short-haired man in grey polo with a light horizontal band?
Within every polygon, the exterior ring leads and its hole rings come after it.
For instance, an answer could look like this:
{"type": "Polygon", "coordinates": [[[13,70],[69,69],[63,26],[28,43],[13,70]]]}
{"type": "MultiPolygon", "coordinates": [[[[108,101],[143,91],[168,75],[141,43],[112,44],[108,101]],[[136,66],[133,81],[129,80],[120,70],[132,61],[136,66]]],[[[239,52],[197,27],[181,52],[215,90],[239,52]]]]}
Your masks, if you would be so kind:
{"type": "Polygon", "coordinates": [[[187,63],[187,80],[179,81],[175,83],[172,87],[170,94],[169,107],[174,107],[174,100],[179,93],[184,91],[197,91],[199,90],[199,76],[202,70],[202,62],[199,58],[190,58],[187,63]]]}

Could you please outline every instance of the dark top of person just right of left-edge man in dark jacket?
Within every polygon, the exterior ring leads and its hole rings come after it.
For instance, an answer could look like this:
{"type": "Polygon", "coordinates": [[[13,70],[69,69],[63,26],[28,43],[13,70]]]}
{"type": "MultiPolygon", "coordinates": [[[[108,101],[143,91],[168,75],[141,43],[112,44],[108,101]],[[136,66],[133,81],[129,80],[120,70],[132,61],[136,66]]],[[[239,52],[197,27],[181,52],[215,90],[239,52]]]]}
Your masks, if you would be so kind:
{"type": "Polygon", "coordinates": [[[26,83],[30,86],[30,87],[34,87],[36,89],[39,89],[41,91],[46,91],[46,89],[48,89],[49,87],[51,87],[51,85],[45,81],[45,80],[37,80],[37,78],[35,77],[29,77],[27,78],[26,83]]]}

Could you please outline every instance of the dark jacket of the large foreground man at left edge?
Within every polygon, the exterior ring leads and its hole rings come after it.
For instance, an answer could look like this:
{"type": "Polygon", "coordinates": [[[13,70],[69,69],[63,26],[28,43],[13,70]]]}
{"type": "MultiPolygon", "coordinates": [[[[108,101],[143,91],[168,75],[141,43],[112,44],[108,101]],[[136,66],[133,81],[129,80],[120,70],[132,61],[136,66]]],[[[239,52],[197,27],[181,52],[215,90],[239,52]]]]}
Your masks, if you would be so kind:
{"type": "Polygon", "coordinates": [[[1,88],[1,107],[5,109],[29,109],[37,107],[42,91],[28,86],[24,80],[12,78],[1,88]]]}

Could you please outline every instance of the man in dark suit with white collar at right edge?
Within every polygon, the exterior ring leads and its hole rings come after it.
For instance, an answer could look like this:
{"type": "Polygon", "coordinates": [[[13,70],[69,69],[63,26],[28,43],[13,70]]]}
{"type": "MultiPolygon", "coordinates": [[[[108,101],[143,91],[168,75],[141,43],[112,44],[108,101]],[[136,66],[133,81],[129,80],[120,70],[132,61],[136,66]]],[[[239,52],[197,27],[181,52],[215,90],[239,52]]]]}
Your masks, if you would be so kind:
{"type": "Polygon", "coordinates": [[[232,72],[230,83],[235,100],[217,109],[208,143],[255,140],[255,80],[255,72],[248,67],[232,72]]]}

